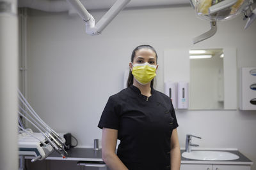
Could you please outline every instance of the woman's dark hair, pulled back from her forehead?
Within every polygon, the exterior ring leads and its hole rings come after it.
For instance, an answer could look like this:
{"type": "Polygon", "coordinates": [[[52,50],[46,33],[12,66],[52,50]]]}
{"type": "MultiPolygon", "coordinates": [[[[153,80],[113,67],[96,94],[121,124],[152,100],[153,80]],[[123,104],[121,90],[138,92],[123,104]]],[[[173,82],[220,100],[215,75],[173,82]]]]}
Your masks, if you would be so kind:
{"type": "MultiPolygon", "coordinates": [[[[133,51],[132,51],[132,55],[131,55],[131,62],[133,63],[133,59],[135,57],[135,53],[137,50],[140,50],[141,48],[146,48],[146,49],[150,49],[152,50],[154,53],[156,53],[156,50],[153,46],[150,46],[150,45],[139,45],[137,46],[133,51]]],[[[157,61],[157,53],[156,53],[156,61],[157,61]]],[[[132,72],[131,72],[131,69],[130,69],[130,72],[129,72],[129,76],[128,76],[128,80],[127,80],[127,87],[130,87],[131,85],[133,84],[133,75],[132,75],[132,72]]],[[[154,79],[151,80],[150,82],[150,87],[153,87],[154,85],[154,79]]]]}

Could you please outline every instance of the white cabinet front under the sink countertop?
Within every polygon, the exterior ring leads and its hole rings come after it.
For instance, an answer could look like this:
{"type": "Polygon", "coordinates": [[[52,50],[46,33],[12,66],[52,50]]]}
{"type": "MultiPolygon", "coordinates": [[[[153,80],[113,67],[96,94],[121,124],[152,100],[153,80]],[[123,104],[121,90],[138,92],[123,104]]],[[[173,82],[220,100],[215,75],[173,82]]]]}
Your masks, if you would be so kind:
{"type": "Polygon", "coordinates": [[[180,170],[250,170],[250,166],[218,164],[181,164],[180,170]]]}

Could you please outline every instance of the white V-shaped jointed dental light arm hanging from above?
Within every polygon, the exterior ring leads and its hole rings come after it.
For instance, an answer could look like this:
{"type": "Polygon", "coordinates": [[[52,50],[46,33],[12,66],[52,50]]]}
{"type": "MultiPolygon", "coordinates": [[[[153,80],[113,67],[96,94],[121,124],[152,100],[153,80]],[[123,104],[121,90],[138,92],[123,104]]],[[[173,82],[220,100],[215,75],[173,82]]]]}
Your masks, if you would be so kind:
{"type": "Polygon", "coordinates": [[[113,6],[108,10],[108,12],[95,25],[95,19],[90,13],[88,13],[86,8],[84,8],[81,1],[67,0],[70,6],[72,6],[72,8],[77,11],[77,14],[84,20],[86,25],[86,33],[90,35],[100,34],[130,1],[131,0],[117,0],[115,4],[113,4],[113,6]]]}

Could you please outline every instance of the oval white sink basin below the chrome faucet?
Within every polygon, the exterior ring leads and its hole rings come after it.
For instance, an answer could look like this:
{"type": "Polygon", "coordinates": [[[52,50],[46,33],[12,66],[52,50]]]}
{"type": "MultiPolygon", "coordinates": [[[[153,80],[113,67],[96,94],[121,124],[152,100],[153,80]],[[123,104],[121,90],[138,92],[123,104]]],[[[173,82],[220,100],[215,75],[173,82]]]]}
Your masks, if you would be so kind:
{"type": "Polygon", "coordinates": [[[195,160],[235,160],[239,159],[234,153],[209,150],[195,150],[183,152],[182,157],[195,160]]]}

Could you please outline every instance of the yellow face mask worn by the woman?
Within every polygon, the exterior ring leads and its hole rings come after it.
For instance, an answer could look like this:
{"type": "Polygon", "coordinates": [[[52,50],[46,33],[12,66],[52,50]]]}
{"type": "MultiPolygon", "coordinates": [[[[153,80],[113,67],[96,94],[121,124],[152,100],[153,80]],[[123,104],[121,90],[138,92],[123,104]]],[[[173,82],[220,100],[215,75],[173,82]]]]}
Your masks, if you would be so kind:
{"type": "Polygon", "coordinates": [[[156,66],[148,62],[132,66],[132,74],[141,85],[147,85],[156,76],[156,66]]]}

